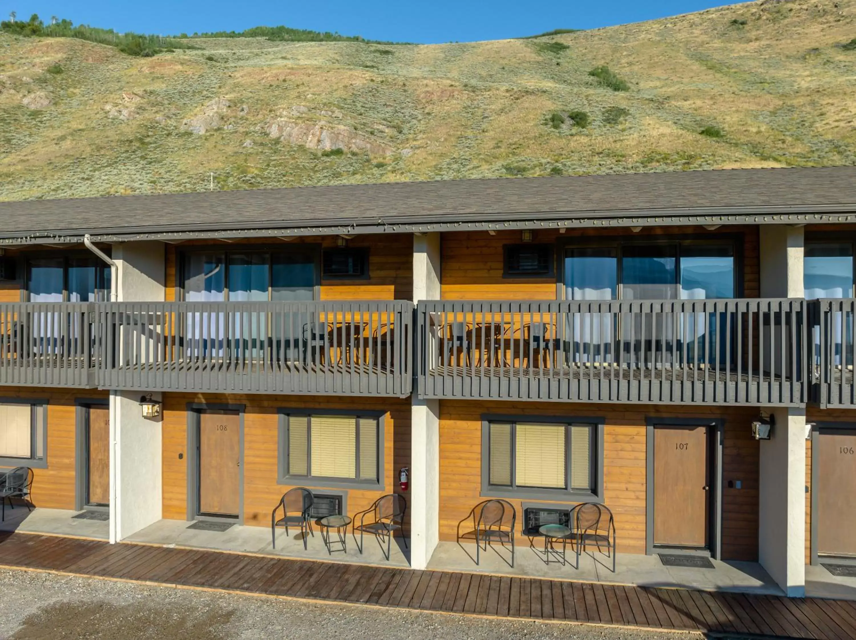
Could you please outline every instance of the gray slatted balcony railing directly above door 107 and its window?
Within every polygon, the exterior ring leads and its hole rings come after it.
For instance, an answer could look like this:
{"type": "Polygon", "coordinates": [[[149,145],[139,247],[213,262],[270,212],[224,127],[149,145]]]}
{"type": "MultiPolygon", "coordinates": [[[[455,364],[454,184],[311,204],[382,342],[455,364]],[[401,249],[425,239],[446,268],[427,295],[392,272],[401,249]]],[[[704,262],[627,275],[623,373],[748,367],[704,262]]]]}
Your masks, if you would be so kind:
{"type": "Polygon", "coordinates": [[[420,302],[430,398],[805,402],[804,300],[420,302]]]}

